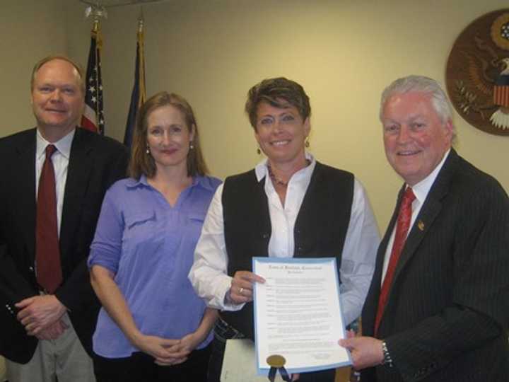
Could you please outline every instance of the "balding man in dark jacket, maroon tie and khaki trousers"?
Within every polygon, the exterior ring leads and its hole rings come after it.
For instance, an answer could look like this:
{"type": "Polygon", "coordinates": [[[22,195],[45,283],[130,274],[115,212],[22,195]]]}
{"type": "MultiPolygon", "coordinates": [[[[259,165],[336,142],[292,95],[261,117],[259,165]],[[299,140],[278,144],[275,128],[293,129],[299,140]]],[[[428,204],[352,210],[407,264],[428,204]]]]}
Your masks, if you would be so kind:
{"type": "Polygon", "coordinates": [[[31,86],[37,128],[0,139],[0,354],[10,382],[94,381],[87,352],[99,304],[86,259],[128,153],[76,128],[85,91],[76,63],[42,59],[31,86]]]}

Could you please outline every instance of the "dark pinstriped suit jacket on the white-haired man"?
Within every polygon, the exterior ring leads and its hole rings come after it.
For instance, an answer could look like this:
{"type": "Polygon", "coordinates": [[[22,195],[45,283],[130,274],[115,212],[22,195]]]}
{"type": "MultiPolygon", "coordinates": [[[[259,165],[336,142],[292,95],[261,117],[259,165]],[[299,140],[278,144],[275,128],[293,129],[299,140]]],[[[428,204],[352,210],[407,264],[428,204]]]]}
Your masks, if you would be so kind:
{"type": "MultiPolygon", "coordinates": [[[[401,195],[378,249],[363,335],[374,334],[401,195]]],[[[509,381],[507,194],[452,149],[410,229],[377,333],[394,367],[365,369],[362,381],[509,381]]]]}

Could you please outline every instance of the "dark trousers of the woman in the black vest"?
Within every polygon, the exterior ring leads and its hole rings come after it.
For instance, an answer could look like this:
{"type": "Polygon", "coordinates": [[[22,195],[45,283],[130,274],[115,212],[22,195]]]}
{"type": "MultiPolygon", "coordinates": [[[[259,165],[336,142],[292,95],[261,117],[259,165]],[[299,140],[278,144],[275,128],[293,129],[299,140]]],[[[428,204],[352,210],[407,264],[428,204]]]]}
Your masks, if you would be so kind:
{"type": "MultiPolygon", "coordinates": [[[[212,353],[209,360],[209,371],[207,372],[208,382],[221,381],[221,369],[223,369],[223,357],[226,349],[226,340],[243,337],[244,336],[238,332],[238,330],[235,330],[235,328],[232,328],[221,318],[218,318],[216,325],[214,326],[212,353]]],[[[335,376],[335,369],[313,371],[311,373],[301,373],[299,382],[334,382],[335,376]]],[[[267,381],[269,380],[267,379],[267,381]]]]}

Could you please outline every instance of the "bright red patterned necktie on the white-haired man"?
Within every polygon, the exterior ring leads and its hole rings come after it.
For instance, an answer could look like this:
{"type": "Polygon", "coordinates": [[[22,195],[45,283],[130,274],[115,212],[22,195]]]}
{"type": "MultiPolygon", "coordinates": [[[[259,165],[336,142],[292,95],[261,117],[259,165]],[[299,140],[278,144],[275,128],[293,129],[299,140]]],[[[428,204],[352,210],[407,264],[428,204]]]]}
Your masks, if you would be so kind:
{"type": "Polygon", "coordinates": [[[399,214],[396,226],[396,235],[394,236],[394,244],[392,244],[392,250],[387,266],[387,272],[385,273],[385,279],[382,284],[382,290],[380,291],[380,298],[378,299],[377,316],[375,319],[375,334],[378,331],[378,325],[382,320],[382,314],[389,297],[389,289],[392,284],[392,277],[394,277],[394,271],[399,260],[402,248],[406,241],[406,233],[408,233],[411,220],[411,204],[414,202],[415,195],[412,192],[411,187],[406,188],[402,204],[399,206],[399,214]]]}

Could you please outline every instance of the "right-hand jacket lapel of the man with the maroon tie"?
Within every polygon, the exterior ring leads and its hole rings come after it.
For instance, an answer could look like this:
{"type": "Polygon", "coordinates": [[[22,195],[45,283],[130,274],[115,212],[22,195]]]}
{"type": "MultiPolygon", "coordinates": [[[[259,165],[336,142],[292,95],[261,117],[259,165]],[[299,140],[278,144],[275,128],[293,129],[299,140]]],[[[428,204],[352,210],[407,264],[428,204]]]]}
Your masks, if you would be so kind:
{"type": "Polygon", "coordinates": [[[63,257],[68,253],[69,245],[81,216],[84,195],[88,190],[90,172],[93,168],[89,163],[93,160],[93,156],[90,155],[92,150],[88,137],[83,134],[80,128],[76,128],[71,145],[64,192],[64,207],[62,208],[60,250],[63,257]]]}

